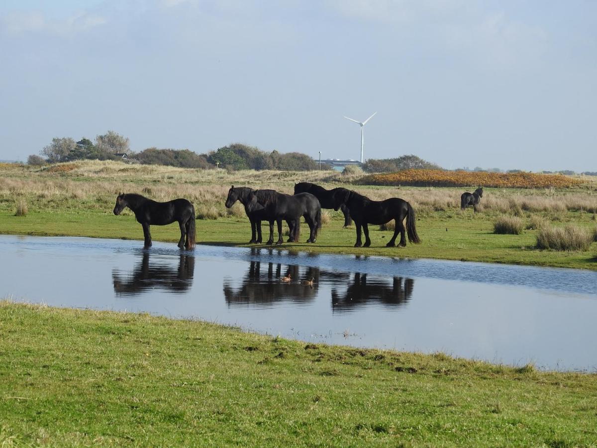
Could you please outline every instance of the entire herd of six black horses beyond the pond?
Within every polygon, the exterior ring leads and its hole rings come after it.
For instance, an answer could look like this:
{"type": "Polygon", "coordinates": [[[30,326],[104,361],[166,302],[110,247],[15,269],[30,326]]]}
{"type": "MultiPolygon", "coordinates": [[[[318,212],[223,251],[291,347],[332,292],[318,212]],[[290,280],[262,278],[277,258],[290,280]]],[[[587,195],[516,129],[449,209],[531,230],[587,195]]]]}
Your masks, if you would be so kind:
{"type": "MultiPolygon", "coordinates": [[[[462,210],[472,206],[476,211],[483,196],[483,189],[477,188],[474,193],[463,193],[460,197],[462,210]]],[[[249,243],[261,243],[261,221],[269,222],[269,239],[266,244],[273,244],[273,223],[278,224],[278,241],[282,244],[282,221],[288,224],[288,243],[298,242],[300,236],[300,218],[303,217],[309,225],[309,239],[307,243],[315,243],[319,229],[321,229],[321,209],[333,208],[344,214],[344,226],[352,221],[356,227],[355,247],[369,247],[368,225],[381,225],[395,220],[394,234],[387,247],[396,246],[396,238],[400,234],[399,246],[406,246],[406,235],[410,243],[420,243],[415,224],[414,209],[400,198],[389,198],[384,201],[373,201],[356,191],[346,188],[327,190],[322,186],[310,182],[300,182],[294,185],[294,194],[287,195],[275,190],[255,190],[248,187],[232,186],[226,198],[226,207],[230,208],[236,201],[245,207],[245,213],[251,223],[251,240],[249,243]],[[404,220],[406,219],[406,227],[404,220]],[[361,232],[365,234],[365,244],[361,240],[361,232]]],[[[195,208],[186,199],[175,199],[168,202],[156,202],[134,193],[121,193],[116,197],[114,214],[118,215],[125,207],[130,208],[137,222],[143,227],[145,247],[150,247],[150,225],[167,225],[178,222],[180,226],[180,240],[178,246],[192,250],[195,248],[195,208]]]]}

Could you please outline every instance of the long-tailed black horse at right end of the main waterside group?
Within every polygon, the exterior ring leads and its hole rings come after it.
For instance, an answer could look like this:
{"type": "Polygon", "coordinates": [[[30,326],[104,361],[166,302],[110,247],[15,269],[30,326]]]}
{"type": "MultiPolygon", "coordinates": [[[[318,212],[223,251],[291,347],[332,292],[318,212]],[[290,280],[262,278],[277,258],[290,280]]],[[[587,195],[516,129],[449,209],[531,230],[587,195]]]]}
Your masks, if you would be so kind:
{"type": "Polygon", "coordinates": [[[400,232],[400,246],[407,245],[404,236],[403,221],[407,219],[408,241],[411,243],[420,243],[415,225],[414,210],[411,205],[400,198],[389,198],[385,201],[372,201],[368,197],[358,194],[356,191],[345,190],[336,191],[332,194],[334,209],[338,210],[342,204],[350,210],[350,217],[356,225],[356,243],[355,247],[369,247],[371,240],[369,238],[368,224],[385,224],[390,220],[395,220],[394,235],[387,242],[387,247],[396,246],[396,237],[400,232]],[[361,242],[361,227],[365,233],[365,244],[361,242]]]}

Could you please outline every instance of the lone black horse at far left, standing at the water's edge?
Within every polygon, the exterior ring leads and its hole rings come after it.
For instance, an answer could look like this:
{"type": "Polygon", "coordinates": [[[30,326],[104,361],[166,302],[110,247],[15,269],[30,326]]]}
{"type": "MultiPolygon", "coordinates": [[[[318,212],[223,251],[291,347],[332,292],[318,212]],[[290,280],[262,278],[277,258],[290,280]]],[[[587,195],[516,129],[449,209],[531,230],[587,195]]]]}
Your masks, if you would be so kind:
{"type": "Polygon", "coordinates": [[[151,246],[151,224],[165,226],[177,221],[180,226],[178,246],[189,250],[195,248],[195,208],[186,199],[156,202],[138,194],[121,193],[116,198],[114,214],[120,214],[125,207],[133,210],[137,222],[143,226],[145,247],[151,246]]]}

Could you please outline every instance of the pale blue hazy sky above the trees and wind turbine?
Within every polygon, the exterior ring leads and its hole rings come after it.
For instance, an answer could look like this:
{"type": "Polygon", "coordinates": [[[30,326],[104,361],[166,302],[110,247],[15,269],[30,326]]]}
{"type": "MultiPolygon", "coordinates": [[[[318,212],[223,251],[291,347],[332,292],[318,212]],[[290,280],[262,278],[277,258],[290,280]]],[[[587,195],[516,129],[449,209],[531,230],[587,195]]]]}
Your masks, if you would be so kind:
{"type": "Polygon", "coordinates": [[[131,149],[597,171],[596,0],[2,0],[0,159],[131,149]]]}

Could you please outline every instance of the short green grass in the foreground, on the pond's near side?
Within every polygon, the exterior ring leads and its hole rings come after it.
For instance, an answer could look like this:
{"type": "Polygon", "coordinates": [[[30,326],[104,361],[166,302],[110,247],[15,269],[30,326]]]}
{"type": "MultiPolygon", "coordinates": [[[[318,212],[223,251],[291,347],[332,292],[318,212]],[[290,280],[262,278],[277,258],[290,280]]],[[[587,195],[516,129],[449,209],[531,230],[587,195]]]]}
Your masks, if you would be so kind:
{"type": "Polygon", "coordinates": [[[597,377],[0,302],[0,446],[597,446],[597,377]]]}

